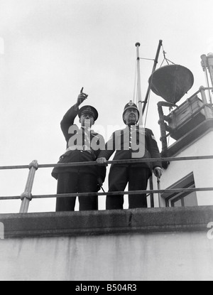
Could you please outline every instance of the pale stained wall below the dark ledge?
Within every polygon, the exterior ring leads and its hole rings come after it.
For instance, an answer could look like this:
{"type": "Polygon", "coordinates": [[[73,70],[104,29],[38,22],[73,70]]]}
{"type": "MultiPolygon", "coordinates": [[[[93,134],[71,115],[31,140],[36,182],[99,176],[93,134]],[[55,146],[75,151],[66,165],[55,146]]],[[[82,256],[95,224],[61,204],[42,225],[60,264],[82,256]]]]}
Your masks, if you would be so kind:
{"type": "Polygon", "coordinates": [[[207,232],[0,240],[0,280],[213,280],[207,232]]]}

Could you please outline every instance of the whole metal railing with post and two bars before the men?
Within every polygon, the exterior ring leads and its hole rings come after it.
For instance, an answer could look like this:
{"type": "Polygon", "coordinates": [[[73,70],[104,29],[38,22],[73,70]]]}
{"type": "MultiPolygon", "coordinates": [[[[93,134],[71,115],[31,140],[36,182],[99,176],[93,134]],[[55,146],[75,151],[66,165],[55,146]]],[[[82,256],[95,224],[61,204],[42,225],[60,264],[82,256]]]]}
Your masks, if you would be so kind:
{"type": "MultiPolygon", "coordinates": [[[[151,163],[154,161],[197,161],[197,160],[209,160],[213,159],[213,156],[185,156],[185,157],[167,157],[167,158],[155,158],[155,159],[131,159],[131,160],[114,160],[107,161],[107,164],[121,164],[121,163],[151,163]]],[[[192,193],[196,191],[213,191],[213,187],[210,188],[172,188],[172,189],[150,189],[143,191],[116,191],[116,192],[106,192],[106,193],[62,193],[62,194],[51,194],[51,195],[32,195],[33,182],[35,178],[35,171],[38,168],[51,168],[51,167],[75,167],[75,166],[97,166],[95,161],[92,162],[75,162],[75,163],[54,163],[54,164],[38,164],[36,160],[32,161],[29,165],[21,166],[0,166],[0,170],[8,169],[25,169],[28,168],[28,179],[26,181],[26,187],[24,192],[21,195],[13,196],[0,196],[0,200],[20,200],[21,199],[21,208],[19,213],[27,213],[28,206],[32,199],[40,198],[64,198],[64,197],[80,197],[80,196],[103,196],[103,195],[136,195],[136,194],[162,194],[162,193],[192,193]]],[[[153,188],[153,186],[151,186],[153,188]]],[[[153,205],[153,200],[151,201],[153,205]]],[[[160,204],[159,204],[160,205],[160,204]]]]}

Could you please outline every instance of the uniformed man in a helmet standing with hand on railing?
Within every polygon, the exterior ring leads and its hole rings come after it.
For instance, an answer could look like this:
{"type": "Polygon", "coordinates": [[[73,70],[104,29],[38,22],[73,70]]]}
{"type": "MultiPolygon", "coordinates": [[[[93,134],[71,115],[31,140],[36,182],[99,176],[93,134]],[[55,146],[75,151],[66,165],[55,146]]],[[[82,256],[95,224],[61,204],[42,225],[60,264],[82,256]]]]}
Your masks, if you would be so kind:
{"type": "MultiPolygon", "coordinates": [[[[114,151],[116,151],[114,160],[160,158],[153,132],[151,129],[144,129],[137,125],[139,117],[140,113],[136,104],[132,101],[127,103],[123,112],[126,128],[117,130],[111,135],[105,150],[100,152],[97,159],[100,166],[106,165],[114,151]],[[120,143],[119,146],[118,142],[120,143]],[[140,144],[143,147],[141,154],[136,151],[140,144]]],[[[129,191],[146,190],[148,178],[151,177],[152,171],[155,176],[160,178],[163,172],[161,161],[112,164],[109,171],[109,192],[125,191],[128,183],[129,191]]],[[[107,196],[107,210],[122,209],[123,205],[124,195],[107,196]]],[[[146,194],[129,195],[129,208],[147,208],[146,194]]]]}

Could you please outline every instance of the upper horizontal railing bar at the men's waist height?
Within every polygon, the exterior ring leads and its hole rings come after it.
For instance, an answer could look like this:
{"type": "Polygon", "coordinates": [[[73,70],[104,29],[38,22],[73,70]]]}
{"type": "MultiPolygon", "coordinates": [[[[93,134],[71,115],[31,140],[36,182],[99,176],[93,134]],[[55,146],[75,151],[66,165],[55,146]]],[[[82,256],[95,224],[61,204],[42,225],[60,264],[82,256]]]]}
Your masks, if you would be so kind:
{"type": "MultiPolygon", "coordinates": [[[[150,159],[126,159],[126,160],[111,160],[107,161],[107,164],[124,164],[124,163],[151,163],[155,161],[194,161],[194,160],[209,160],[213,159],[213,156],[183,156],[183,157],[167,157],[167,158],[150,158],[150,159]]],[[[74,163],[53,163],[53,164],[38,164],[38,168],[50,168],[50,167],[75,167],[75,166],[96,166],[96,161],[88,162],[74,162],[74,163]]],[[[21,166],[0,166],[0,170],[6,169],[23,169],[29,168],[28,165],[21,166]]]]}

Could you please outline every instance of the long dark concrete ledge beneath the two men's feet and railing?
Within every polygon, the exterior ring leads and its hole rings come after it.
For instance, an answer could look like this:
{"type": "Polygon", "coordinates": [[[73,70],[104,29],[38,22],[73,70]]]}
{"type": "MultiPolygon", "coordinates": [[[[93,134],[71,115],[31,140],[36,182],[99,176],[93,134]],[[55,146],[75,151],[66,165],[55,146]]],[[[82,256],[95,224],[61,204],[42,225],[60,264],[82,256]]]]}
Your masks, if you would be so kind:
{"type": "Polygon", "coordinates": [[[0,214],[4,238],[207,231],[213,206],[0,214]]]}

